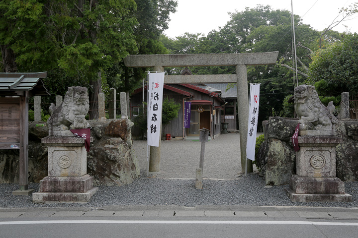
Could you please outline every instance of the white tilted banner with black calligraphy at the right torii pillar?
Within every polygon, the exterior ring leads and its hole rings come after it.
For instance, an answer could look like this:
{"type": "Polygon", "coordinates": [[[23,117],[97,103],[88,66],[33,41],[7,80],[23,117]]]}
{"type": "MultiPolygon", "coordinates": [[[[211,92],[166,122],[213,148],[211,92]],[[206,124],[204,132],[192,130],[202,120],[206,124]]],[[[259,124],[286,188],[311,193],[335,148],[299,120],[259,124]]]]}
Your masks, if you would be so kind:
{"type": "Polygon", "coordinates": [[[250,111],[248,137],[246,144],[246,157],[255,160],[256,132],[259,119],[260,84],[250,85],[250,111]]]}

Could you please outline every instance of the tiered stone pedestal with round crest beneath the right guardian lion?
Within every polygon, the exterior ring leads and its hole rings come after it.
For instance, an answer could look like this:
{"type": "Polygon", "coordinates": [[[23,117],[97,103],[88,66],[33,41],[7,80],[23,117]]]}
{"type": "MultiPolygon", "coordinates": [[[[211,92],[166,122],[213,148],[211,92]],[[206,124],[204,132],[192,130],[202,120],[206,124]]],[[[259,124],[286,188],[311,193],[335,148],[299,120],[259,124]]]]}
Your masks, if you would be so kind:
{"type": "Polygon", "coordinates": [[[298,136],[296,175],[285,188],[291,201],[352,202],[352,195],[345,193],[344,182],[336,177],[336,145],[340,138],[315,136],[316,132],[309,131],[301,134],[305,136],[298,136]]]}

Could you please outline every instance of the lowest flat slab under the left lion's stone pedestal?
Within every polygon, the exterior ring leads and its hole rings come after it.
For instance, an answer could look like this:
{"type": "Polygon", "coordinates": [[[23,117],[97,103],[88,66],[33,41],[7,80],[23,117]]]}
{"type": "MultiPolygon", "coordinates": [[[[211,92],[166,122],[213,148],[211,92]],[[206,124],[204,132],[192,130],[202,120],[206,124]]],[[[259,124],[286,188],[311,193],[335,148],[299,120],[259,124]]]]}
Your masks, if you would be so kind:
{"type": "Polygon", "coordinates": [[[98,187],[87,192],[35,192],[32,194],[34,202],[88,202],[98,187]]]}

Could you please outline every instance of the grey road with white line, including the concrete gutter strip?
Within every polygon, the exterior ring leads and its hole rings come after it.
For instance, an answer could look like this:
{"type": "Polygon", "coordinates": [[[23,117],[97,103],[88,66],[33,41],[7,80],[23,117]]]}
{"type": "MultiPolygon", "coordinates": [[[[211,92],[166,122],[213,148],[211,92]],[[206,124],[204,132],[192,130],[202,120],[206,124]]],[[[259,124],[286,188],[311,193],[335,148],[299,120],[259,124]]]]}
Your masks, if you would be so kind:
{"type": "Polygon", "coordinates": [[[0,209],[0,238],[356,238],[358,209],[113,206],[0,209]],[[55,210],[53,210],[55,209],[55,210]]]}

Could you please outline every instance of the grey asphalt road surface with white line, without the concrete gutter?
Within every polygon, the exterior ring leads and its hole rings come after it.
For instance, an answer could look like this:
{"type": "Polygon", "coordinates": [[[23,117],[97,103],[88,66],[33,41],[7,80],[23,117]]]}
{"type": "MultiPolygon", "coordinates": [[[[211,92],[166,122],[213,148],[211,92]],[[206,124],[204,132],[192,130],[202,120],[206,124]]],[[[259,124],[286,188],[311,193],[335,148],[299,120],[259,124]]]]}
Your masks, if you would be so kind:
{"type": "Polygon", "coordinates": [[[0,223],[0,238],[356,238],[358,223],[347,221],[277,221],[227,219],[41,220],[0,223]]]}

